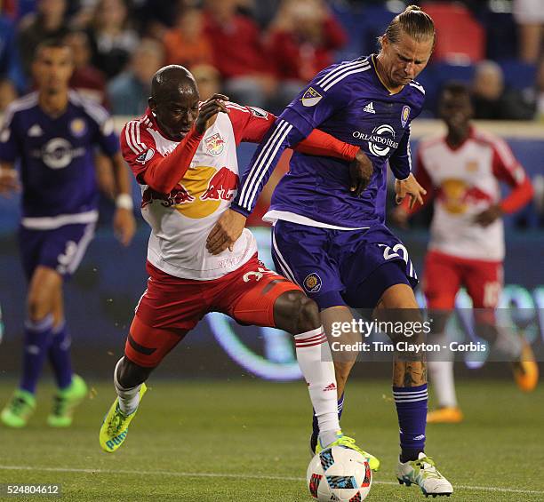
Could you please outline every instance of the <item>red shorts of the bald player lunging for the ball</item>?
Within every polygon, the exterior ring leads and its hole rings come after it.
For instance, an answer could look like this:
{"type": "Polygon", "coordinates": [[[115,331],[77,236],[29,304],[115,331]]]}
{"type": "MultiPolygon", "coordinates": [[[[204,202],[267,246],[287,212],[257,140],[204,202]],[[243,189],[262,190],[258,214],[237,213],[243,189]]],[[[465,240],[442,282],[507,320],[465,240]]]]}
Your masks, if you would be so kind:
{"type": "Polygon", "coordinates": [[[241,324],[275,327],[274,304],[286,291],[301,291],[252,256],[242,267],[212,281],[168,275],[147,264],[142,295],[124,347],[133,363],[149,368],[162,361],[204,315],[221,312],[241,324]]]}

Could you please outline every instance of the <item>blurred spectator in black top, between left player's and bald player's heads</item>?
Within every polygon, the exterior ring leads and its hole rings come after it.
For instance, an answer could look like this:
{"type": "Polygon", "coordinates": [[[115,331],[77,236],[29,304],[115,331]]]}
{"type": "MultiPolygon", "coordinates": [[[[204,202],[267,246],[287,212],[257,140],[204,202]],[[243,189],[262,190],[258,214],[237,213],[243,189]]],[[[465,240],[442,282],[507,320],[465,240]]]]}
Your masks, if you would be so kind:
{"type": "Polygon", "coordinates": [[[92,62],[108,78],[126,67],[139,38],[129,28],[124,0],[100,0],[96,5],[91,29],[92,62]]]}

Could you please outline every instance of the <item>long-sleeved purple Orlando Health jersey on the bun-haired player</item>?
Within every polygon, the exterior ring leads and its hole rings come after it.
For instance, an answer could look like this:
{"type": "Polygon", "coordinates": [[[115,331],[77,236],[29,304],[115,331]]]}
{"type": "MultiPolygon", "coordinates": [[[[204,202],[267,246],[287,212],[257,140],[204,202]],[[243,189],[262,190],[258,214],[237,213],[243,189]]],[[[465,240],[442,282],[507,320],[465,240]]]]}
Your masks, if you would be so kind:
{"type": "Polygon", "coordinates": [[[376,73],[375,55],[324,69],[261,142],[244,172],[233,209],[249,214],[284,148],[318,128],[364,150],[374,165],[369,187],[356,197],[349,192],[349,163],[295,152],[290,171],[276,187],[270,210],[291,215],[279,219],[292,219],[294,214],[337,228],[382,223],[387,163],[397,179],[409,176],[410,123],[420,115],[424,98],[423,87],[414,81],[401,92],[388,92],[376,73]]]}

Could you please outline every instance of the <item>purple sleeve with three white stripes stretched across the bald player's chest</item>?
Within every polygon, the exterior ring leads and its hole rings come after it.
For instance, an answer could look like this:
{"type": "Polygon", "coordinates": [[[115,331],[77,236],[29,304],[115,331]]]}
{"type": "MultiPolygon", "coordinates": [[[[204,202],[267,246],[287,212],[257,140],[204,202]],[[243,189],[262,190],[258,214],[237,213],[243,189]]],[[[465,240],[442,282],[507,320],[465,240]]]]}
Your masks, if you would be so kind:
{"type": "MultiPolygon", "coordinates": [[[[259,199],[262,188],[276,168],[276,164],[287,147],[293,147],[319,124],[343,108],[348,97],[343,94],[341,85],[325,90],[319,82],[327,77],[322,72],[300,92],[299,96],[285,108],[264,139],[260,142],[251,163],[242,174],[240,187],[231,208],[248,216],[259,199]]],[[[345,90],[344,90],[345,91],[345,90]]]]}

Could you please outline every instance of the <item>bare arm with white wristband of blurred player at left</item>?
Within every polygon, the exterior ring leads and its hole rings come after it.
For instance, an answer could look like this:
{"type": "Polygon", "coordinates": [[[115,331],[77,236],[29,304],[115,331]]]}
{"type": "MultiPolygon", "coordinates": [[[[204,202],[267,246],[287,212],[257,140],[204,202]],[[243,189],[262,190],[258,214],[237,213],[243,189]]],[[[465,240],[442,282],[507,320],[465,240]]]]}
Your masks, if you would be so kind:
{"type": "Polygon", "coordinates": [[[114,232],[117,239],[124,246],[128,246],[134,232],[136,232],[136,220],[132,214],[133,203],[131,195],[131,179],[124,164],[121,152],[111,158],[111,163],[116,179],[116,213],[114,215],[114,232]]]}

